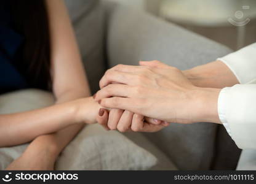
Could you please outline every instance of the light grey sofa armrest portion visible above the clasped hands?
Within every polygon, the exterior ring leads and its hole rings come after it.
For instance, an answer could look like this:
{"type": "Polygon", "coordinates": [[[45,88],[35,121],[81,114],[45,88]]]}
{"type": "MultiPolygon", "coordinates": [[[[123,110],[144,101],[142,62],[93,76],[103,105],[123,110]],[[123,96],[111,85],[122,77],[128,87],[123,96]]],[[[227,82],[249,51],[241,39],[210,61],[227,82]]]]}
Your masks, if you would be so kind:
{"type": "Polygon", "coordinates": [[[107,34],[110,67],[158,59],[188,69],[231,52],[217,42],[126,6],[116,5],[111,10],[107,34]]]}

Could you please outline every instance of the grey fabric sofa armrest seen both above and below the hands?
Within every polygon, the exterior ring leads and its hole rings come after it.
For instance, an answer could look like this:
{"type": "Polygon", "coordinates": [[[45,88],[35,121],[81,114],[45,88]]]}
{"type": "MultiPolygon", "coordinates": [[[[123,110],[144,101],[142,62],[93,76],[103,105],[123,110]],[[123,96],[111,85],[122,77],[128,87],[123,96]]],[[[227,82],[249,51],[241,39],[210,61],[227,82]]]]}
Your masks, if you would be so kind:
{"type": "MultiPolygon", "coordinates": [[[[145,12],[116,6],[114,9],[108,7],[106,15],[109,67],[119,63],[137,65],[139,60],[158,59],[179,69],[188,69],[231,52],[223,45],[145,12]]],[[[218,137],[226,134],[218,134],[218,129],[220,126],[212,123],[172,123],[160,132],[144,135],[161,148],[178,169],[235,169],[239,150],[229,136],[224,141],[228,146],[222,144],[217,147],[221,143],[218,137]],[[230,151],[234,155],[230,155],[230,151]]]]}

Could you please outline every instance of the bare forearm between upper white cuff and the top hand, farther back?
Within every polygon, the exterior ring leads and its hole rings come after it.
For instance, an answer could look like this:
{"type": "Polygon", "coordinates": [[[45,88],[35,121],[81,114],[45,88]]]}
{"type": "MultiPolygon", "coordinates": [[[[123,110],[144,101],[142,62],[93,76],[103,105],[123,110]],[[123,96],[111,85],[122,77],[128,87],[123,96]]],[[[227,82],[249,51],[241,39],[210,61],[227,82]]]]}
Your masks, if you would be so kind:
{"type": "Polygon", "coordinates": [[[224,88],[238,84],[233,72],[222,63],[214,61],[183,71],[190,82],[202,88],[224,88]]]}

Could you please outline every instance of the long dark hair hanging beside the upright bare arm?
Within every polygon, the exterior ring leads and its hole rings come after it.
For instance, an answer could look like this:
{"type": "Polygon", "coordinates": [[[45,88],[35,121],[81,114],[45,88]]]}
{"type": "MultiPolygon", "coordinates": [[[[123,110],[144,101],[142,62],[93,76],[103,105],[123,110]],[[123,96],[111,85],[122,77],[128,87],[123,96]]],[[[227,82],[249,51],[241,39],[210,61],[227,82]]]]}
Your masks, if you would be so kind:
{"type": "Polygon", "coordinates": [[[24,36],[22,60],[17,61],[30,87],[49,90],[50,34],[45,0],[9,0],[14,27],[24,36]]]}

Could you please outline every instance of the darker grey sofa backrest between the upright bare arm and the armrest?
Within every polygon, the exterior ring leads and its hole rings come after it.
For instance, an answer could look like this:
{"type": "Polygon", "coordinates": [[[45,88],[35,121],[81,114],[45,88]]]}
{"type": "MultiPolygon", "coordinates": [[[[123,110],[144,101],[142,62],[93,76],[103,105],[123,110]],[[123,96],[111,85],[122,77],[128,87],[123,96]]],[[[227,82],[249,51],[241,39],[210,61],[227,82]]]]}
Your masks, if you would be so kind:
{"type": "Polygon", "coordinates": [[[90,84],[98,90],[98,82],[106,70],[104,58],[103,8],[98,0],[65,0],[90,84]]]}

